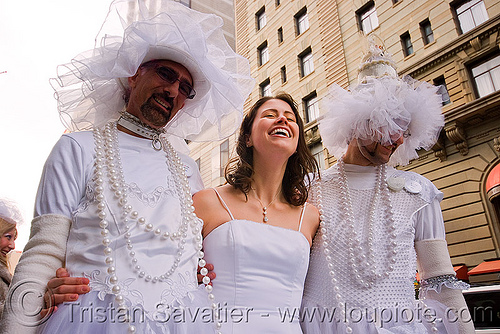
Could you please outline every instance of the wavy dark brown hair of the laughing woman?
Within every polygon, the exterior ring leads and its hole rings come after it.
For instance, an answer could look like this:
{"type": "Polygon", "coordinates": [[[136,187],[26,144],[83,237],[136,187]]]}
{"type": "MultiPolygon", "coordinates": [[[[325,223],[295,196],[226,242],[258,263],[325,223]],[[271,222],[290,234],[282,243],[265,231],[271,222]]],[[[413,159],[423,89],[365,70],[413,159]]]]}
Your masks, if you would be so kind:
{"type": "MultiPolygon", "coordinates": [[[[310,175],[319,175],[318,162],[312,156],[307,147],[304,137],[304,123],[299,115],[297,103],[287,93],[278,93],[275,96],[260,98],[245,116],[240,127],[240,134],[236,146],[237,156],[232,158],[226,166],[225,178],[227,183],[241,190],[245,196],[251,189],[253,176],[253,150],[246,146],[247,138],[252,132],[252,125],[259,108],[269,100],[281,100],[286,102],[292,109],[299,126],[299,140],[297,150],[288,158],[285,175],[281,183],[281,191],[286,201],[292,205],[299,206],[305,203],[309,194],[311,184],[310,175]]],[[[313,176],[314,177],[314,176],[313,176]]]]}

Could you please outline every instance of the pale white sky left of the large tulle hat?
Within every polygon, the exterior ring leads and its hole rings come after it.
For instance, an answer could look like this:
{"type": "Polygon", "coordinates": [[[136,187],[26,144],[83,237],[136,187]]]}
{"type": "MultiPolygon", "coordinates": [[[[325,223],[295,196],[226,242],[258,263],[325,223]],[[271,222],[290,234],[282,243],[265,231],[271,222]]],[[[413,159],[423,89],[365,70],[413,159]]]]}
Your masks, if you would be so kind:
{"type": "Polygon", "coordinates": [[[28,241],[43,164],[64,131],[49,78],[92,49],[111,0],[0,0],[0,197],[24,215],[28,241]]]}

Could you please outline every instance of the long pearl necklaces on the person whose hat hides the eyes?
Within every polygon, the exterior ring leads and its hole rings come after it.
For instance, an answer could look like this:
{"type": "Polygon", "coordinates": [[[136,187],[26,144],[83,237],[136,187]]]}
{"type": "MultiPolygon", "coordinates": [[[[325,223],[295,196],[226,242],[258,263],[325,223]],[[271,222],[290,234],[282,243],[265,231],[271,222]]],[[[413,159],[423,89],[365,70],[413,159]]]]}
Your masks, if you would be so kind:
{"type": "MultiPolygon", "coordinates": [[[[344,204],[344,208],[345,208],[345,211],[344,211],[344,219],[347,223],[347,227],[348,227],[348,230],[350,232],[350,235],[352,236],[351,238],[349,238],[349,255],[350,255],[350,259],[349,259],[349,262],[351,263],[351,267],[352,267],[352,270],[353,272],[356,274],[356,278],[359,277],[358,279],[358,282],[365,288],[368,288],[368,287],[372,287],[374,284],[375,284],[375,279],[373,280],[369,280],[368,282],[365,282],[365,280],[361,280],[361,274],[359,273],[359,265],[356,263],[356,260],[359,259],[360,257],[362,258],[362,260],[364,261],[364,263],[362,264],[363,266],[365,266],[364,268],[369,268],[367,267],[367,258],[366,256],[362,257],[362,256],[358,256],[358,257],[355,257],[355,253],[353,252],[355,248],[353,248],[352,246],[354,245],[357,245],[356,246],[356,251],[358,252],[358,254],[361,254],[363,255],[363,248],[361,247],[361,243],[360,243],[360,240],[359,240],[359,236],[357,234],[357,232],[354,230],[354,215],[353,215],[353,211],[352,211],[352,202],[351,202],[351,199],[350,199],[350,196],[349,196],[349,188],[348,188],[348,183],[347,183],[347,176],[345,174],[345,168],[344,168],[344,161],[343,159],[339,159],[338,163],[337,163],[337,168],[339,170],[339,183],[340,183],[340,191],[341,191],[341,203],[344,204]],[[362,281],[362,282],[361,282],[362,281]]],[[[382,192],[382,188],[384,188],[384,186],[382,184],[385,185],[385,180],[386,180],[386,165],[382,165],[382,166],[379,166],[378,168],[378,172],[377,172],[377,181],[376,181],[376,189],[378,188],[379,189],[379,192],[382,192]]],[[[386,188],[386,187],[385,187],[386,188]]],[[[388,190],[386,191],[386,196],[384,196],[387,200],[387,202],[385,203],[385,205],[387,206],[387,208],[389,209],[388,212],[390,213],[390,229],[392,230],[392,234],[391,234],[391,246],[392,246],[392,251],[390,251],[387,256],[387,258],[389,258],[389,262],[390,263],[395,263],[395,254],[397,254],[397,252],[395,252],[395,249],[396,249],[396,246],[397,246],[397,243],[395,242],[395,238],[396,238],[396,235],[395,235],[395,221],[394,221],[394,218],[393,218],[393,212],[392,212],[392,205],[390,203],[390,195],[389,195],[389,192],[388,190]],[[392,256],[391,256],[392,254],[392,256]]],[[[376,207],[376,200],[377,200],[377,190],[375,192],[375,196],[374,196],[374,203],[372,203],[372,208],[375,208],[376,207]]],[[[335,298],[335,302],[337,304],[337,307],[340,309],[340,314],[341,314],[341,318],[340,319],[343,319],[344,320],[344,324],[345,324],[345,332],[347,334],[351,334],[353,333],[353,329],[350,325],[350,319],[349,317],[347,316],[346,314],[346,302],[345,302],[345,298],[342,296],[342,293],[341,293],[341,289],[339,287],[339,281],[338,281],[338,273],[336,272],[335,270],[335,266],[333,264],[333,259],[332,259],[332,251],[330,250],[330,242],[333,240],[333,234],[332,234],[332,231],[329,231],[329,228],[328,228],[328,224],[325,222],[325,215],[324,215],[324,209],[323,209],[323,195],[322,195],[322,186],[321,186],[321,182],[318,182],[317,184],[317,207],[318,207],[318,211],[319,211],[319,214],[320,214],[320,225],[319,225],[319,228],[320,228],[320,231],[321,231],[321,236],[322,236],[322,243],[323,243],[323,252],[324,252],[324,255],[325,255],[325,259],[326,259],[326,263],[327,263],[327,269],[328,269],[328,275],[330,276],[330,281],[332,283],[332,286],[333,286],[333,291],[334,291],[334,298],[335,298]]],[[[368,258],[372,258],[373,257],[373,220],[374,220],[375,216],[374,216],[374,209],[371,210],[370,212],[370,227],[369,227],[369,233],[368,233],[368,239],[371,237],[372,239],[368,240],[368,245],[370,245],[370,254],[368,256],[368,258]],[[371,233],[370,233],[371,232],[371,233]]],[[[345,224],[342,224],[342,226],[344,226],[345,224]]],[[[336,256],[335,254],[333,254],[333,256],[336,256]]],[[[373,265],[375,264],[374,262],[372,262],[373,265]]],[[[363,268],[363,267],[361,267],[363,268]]],[[[394,270],[394,266],[393,265],[390,265],[390,267],[388,268],[390,271],[394,270]]],[[[380,273],[376,273],[375,272],[375,268],[373,270],[370,270],[369,272],[371,275],[376,275],[376,279],[378,278],[381,278],[382,276],[380,276],[380,273]]],[[[389,272],[387,272],[387,274],[385,274],[384,276],[389,276],[388,274],[389,272]]],[[[363,277],[366,278],[366,275],[363,275],[363,277]]],[[[423,302],[422,302],[423,303],[423,302]]],[[[423,303],[423,306],[426,307],[425,303],[423,303]]],[[[436,327],[436,321],[432,321],[431,322],[431,330],[433,333],[437,333],[438,329],[436,327]]]]}

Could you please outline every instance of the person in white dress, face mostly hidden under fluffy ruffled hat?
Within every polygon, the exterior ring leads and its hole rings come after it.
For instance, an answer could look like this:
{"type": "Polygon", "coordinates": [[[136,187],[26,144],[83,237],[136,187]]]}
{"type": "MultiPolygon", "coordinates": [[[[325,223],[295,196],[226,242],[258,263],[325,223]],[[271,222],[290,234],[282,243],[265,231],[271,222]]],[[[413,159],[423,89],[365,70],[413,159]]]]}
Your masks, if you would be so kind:
{"type": "Polygon", "coordinates": [[[373,42],[358,80],[351,91],[332,88],[319,124],[339,159],[311,189],[322,222],[304,291],[304,333],[473,333],[466,284],[446,247],[443,194],[388,166],[434,144],[444,125],[437,88],[399,78],[373,42]]]}

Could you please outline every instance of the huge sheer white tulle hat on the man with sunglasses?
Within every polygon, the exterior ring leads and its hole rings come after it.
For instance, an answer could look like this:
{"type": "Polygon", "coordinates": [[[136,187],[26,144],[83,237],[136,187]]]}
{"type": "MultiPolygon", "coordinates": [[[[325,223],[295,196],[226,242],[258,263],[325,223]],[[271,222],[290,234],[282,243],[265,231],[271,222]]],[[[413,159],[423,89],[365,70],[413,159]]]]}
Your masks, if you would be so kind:
{"type": "Polygon", "coordinates": [[[214,14],[169,0],[115,0],[93,50],[58,67],[51,80],[61,119],[69,131],[118,119],[127,78],[147,61],[182,64],[193,78],[194,99],[165,127],[168,134],[206,141],[231,135],[254,86],[248,60],[236,54],[214,14]],[[153,5],[154,4],[154,5],[153,5]]]}

